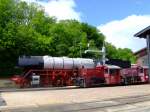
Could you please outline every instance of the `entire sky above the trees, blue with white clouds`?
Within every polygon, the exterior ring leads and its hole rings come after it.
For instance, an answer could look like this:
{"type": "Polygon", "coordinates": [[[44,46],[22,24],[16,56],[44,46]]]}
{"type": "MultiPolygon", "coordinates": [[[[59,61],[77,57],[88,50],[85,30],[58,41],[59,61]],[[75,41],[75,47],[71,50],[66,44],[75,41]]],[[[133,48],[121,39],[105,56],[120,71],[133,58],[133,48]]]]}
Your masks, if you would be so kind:
{"type": "Polygon", "coordinates": [[[106,41],[117,48],[134,52],[146,46],[146,40],[133,35],[150,25],[149,0],[22,0],[36,2],[58,21],[76,19],[97,27],[106,41]]]}

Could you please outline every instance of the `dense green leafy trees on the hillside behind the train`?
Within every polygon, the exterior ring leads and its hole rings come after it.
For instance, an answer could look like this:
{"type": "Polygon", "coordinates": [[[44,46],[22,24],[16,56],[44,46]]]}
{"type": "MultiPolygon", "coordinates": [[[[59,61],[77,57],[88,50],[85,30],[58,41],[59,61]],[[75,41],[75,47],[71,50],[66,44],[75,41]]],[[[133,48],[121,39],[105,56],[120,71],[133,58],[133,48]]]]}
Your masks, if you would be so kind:
{"type": "MultiPolygon", "coordinates": [[[[20,0],[0,0],[0,74],[16,73],[20,55],[100,58],[105,36],[96,27],[77,20],[57,21],[42,6],[20,0]],[[87,44],[90,47],[87,47],[87,44]]],[[[134,61],[130,49],[106,43],[107,57],[134,61]]]]}

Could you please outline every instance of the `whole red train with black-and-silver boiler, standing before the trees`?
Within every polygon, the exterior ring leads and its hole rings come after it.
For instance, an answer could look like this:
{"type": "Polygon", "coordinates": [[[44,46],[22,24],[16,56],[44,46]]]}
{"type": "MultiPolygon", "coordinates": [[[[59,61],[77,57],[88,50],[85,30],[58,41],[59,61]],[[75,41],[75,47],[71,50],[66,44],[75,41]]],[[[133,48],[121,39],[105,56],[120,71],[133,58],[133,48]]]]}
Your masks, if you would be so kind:
{"type": "Polygon", "coordinates": [[[22,56],[18,66],[24,68],[24,72],[11,80],[21,88],[148,83],[148,67],[113,64],[101,65],[86,58],[22,56]]]}

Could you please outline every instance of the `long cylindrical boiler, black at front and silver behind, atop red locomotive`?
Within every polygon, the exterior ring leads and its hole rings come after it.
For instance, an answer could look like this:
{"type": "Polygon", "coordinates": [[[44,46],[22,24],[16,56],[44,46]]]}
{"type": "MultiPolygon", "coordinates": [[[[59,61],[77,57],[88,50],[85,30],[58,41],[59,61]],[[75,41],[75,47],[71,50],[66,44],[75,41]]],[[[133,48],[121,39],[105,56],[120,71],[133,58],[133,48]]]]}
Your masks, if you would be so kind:
{"type": "Polygon", "coordinates": [[[75,69],[75,68],[94,68],[93,59],[68,58],[51,56],[22,56],[19,57],[20,67],[37,67],[42,69],[75,69]]]}

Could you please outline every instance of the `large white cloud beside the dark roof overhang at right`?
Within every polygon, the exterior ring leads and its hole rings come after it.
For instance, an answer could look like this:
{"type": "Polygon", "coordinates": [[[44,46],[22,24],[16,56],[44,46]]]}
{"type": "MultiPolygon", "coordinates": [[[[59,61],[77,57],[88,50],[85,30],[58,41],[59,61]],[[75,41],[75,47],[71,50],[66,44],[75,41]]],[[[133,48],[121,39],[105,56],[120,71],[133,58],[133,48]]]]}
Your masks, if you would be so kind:
{"type": "Polygon", "coordinates": [[[106,41],[116,47],[137,51],[146,46],[146,40],[133,35],[149,25],[150,15],[131,15],[122,20],[102,24],[98,29],[106,36],[106,41]]]}

